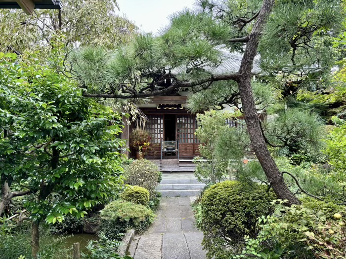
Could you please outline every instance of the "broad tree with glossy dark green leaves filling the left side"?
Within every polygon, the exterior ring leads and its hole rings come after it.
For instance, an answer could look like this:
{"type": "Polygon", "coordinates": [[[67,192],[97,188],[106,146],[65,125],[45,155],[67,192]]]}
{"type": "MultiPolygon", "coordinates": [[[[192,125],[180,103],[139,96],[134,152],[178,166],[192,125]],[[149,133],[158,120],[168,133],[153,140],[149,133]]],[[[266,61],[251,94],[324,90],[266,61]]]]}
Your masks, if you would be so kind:
{"type": "Polygon", "coordinates": [[[0,214],[11,197],[29,193],[24,208],[36,258],[40,222],[84,217],[119,192],[121,114],[84,98],[74,80],[36,55],[19,63],[15,54],[0,58],[0,214]]]}

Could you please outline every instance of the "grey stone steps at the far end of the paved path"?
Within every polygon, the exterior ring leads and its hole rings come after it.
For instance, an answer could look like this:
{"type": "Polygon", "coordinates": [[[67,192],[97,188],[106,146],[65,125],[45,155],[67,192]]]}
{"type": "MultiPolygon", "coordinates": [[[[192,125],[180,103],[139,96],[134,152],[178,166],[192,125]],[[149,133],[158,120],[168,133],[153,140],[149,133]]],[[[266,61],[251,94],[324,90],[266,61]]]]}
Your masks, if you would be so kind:
{"type": "Polygon", "coordinates": [[[190,179],[186,178],[186,174],[184,174],[185,176],[181,174],[180,179],[176,177],[170,179],[170,174],[167,175],[157,186],[157,191],[161,193],[162,197],[197,196],[205,186],[205,184],[198,182],[193,174],[191,174],[190,179]]]}

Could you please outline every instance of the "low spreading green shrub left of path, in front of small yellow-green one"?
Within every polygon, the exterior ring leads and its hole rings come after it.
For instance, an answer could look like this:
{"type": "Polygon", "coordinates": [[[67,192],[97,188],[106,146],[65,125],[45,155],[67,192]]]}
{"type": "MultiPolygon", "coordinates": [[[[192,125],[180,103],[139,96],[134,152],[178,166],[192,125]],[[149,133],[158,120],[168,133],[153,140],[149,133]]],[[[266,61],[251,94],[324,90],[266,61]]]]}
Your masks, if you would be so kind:
{"type": "Polygon", "coordinates": [[[149,208],[121,199],[106,205],[100,216],[100,232],[116,240],[130,228],[138,232],[146,230],[155,217],[149,208]]]}

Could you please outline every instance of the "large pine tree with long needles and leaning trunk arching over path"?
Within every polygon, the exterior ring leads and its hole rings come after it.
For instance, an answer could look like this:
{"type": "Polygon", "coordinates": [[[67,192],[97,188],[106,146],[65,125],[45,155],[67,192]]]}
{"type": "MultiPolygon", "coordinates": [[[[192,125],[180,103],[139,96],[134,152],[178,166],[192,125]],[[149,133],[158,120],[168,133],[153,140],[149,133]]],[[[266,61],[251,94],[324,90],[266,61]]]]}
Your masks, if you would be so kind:
{"type": "Polygon", "coordinates": [[[252,147],[273,190],[288,203],[299,204],[266,146],[252,88],[252,67],[260,54],[263,79],[273,87],[273,82],[295,84],[293,75],[307,83],[319,83],[337,58],[333,35],[342,29],[343,3],[200,0],[198,6],[196,11],[172,15],[171,25],[160,37],[141,35],[115,53],[102,56],[99,49],[94,50],[98,55],[83,55],[82,50],[74,68],[87,90],[84,96],[143,98],[190,89],[205,93],[205,98],[214,91],[213,106],[239,105],[240,99],[252,147]],[[213,68],[227,58],[221,55],[220,46],[244,52],[239,71],[214,73],[213,68]],[[102,73],[95,73],[95,66],[87,64],[98,64],[97,71],[102,73]],[[168,86],[165,79],[173,83],[168,86]]]}

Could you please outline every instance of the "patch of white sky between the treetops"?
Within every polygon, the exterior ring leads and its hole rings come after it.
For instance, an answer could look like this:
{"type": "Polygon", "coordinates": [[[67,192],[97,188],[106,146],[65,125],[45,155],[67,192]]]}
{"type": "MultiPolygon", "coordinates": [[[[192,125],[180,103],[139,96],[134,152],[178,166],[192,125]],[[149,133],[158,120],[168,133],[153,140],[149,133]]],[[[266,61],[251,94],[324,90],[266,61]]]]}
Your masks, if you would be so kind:
{"type": "Polygon", "coordinates": [[[168,16],[184,7],[193,8],[195,0],[117,0],[120,12],[142,31],[154,34],[169,24],[168,16]]]}

